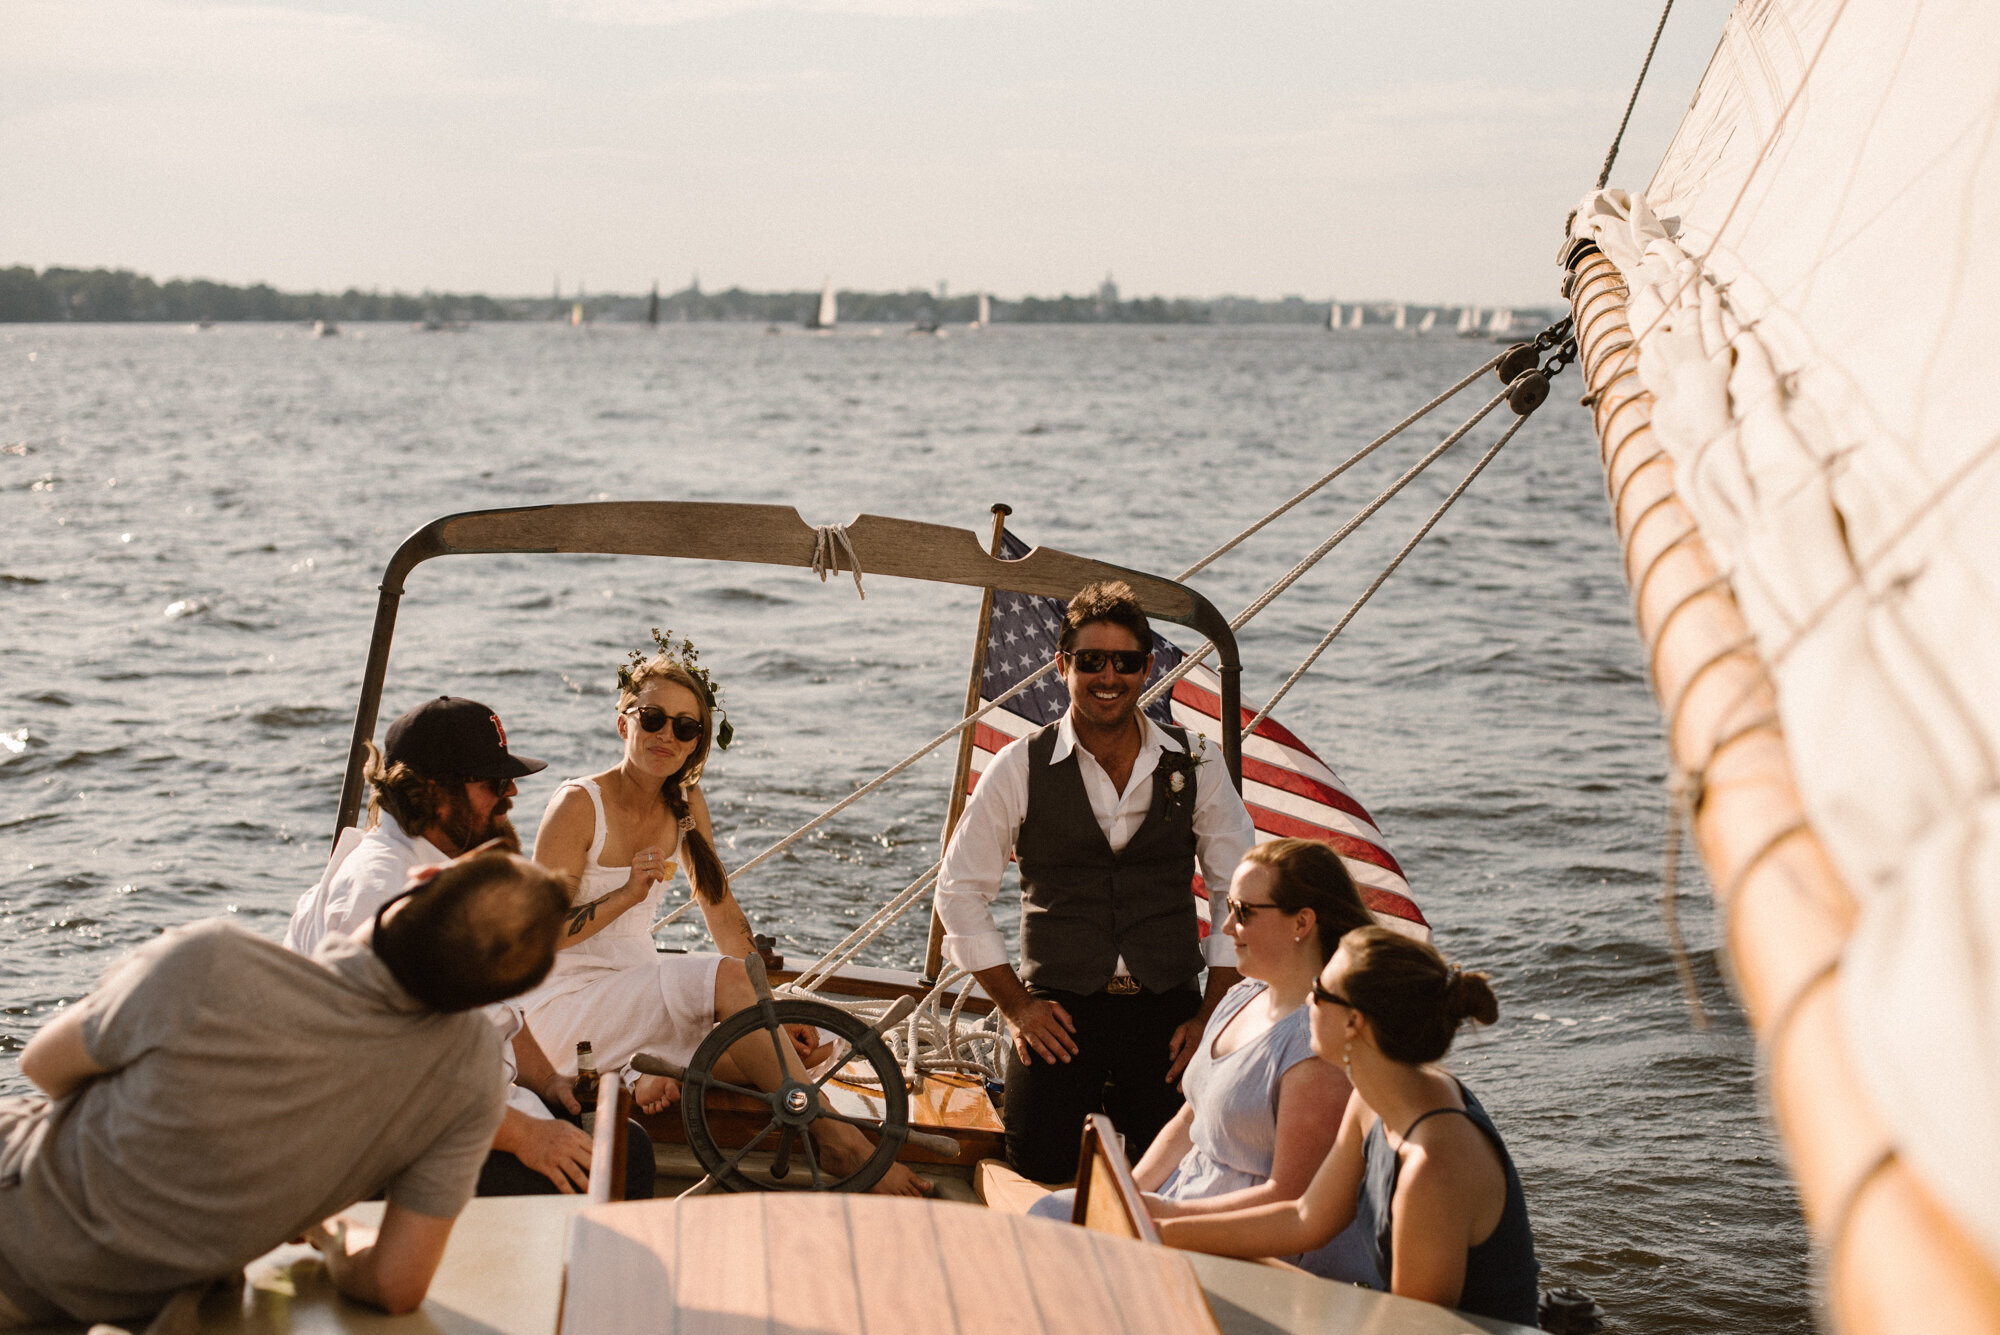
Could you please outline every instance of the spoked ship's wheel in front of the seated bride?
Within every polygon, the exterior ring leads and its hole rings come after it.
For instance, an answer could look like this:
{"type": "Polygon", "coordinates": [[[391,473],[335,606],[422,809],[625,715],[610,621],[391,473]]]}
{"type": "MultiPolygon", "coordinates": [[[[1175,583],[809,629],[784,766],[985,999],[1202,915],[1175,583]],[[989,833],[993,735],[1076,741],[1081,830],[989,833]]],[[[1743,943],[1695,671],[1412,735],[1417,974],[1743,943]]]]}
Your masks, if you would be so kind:
{"type": "Polygon", "coordinates": [[[736,1011],[716,1025],[702,1039],[702,1045],[694,1049],[694,1057],[684,1071],[648,1053],[634,1057],[632,1067],[652,1075],[668,1075],[682,1083],[680,1117],[688,1129],[688,1147],[694,1151],[696,1161],[700,1161],[702,1171],[708,1173],[706,1183],[724,1191],[772,1191],[780,1189],[778,1183],[796,1183],[812,1191],[866,1191],[882,1179],[890,1163],[896,1161],[902,1143],[910,1137],[910,1097],[904,1091],[902,1067],[878,1031],[878,1025],[890,1027],[906,1015],[910,1003],[898,1003],[890,1015],[870,1025],[866,1019],[824,1001],[772,997],[764,977],[764,961],[756,955],[750,955],[744,967],[750,973],[750,985],[758,993],[758,1003],[736,1011]],[[778,1057],[778,1065],[786,1067],[786,1053],[792,1051],[792,1037],[786,1033],[786,1025],[816,1025],[824,1033],[830,1033],[836,1053],[832,1065],[806,1081],[786,1077],[776,1089],[752,1089],[750,1085],[726,1081],[716,1075],[716,1063],[722,1059],[722,1053],[744,1039],[768,1041],[778,1057]],[[764,1039],[758,1039],[758,1033],[764,1039]],[[836,1111],[824,1097],[826,1085],[834,1079],[878,1087],[882,1119],[874,1121],[836,1111]],[[724,1109],[720,1105],[710,1107],[712,1093],[738,1095],[738,1099],[730,1099],[730,1103],[738,1103],[738,1109],[740,1099],[752,1099],[758,1105],[756,1115],[768,1111],[770,1119],[742,1145],[724,1149],[716,1139],[714,1125],[724,1109]],[[846,1121],[872,1133],[876,1137],[874,1153],[854,1171],[834,1173],[820,1159],[820,1145],[812,1133],[812,1125],[820,1119],[846,1121]],[[770,1151],[770,1175],[778,1183],[762,1181],[742,1171],[744,1159],[760,1149],[770,1151]]]}

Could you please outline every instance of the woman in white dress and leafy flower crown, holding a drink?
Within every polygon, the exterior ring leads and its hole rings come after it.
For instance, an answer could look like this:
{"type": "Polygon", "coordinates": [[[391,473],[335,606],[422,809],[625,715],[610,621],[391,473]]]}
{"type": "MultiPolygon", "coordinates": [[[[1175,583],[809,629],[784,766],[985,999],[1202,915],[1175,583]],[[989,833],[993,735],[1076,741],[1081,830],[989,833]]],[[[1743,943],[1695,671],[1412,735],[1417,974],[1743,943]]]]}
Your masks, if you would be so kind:
{"type": "MultiPolygon", "coordinates": [[[[572,907],[556,967],[522,1007],[564,1071],[574,1069],[582,1039],[602,1071],[640,1051],[686,1065],[718,1021],[756,1005],[742,965],[754,949],[750,919],[716,857],[700,787],[714,737],[706,673],[662,652],[620,671],[618,681],[624,755],[612,769],[556,789],[534,839],[534,859],[568,881],[572,907]],[[682,865],[720,955],[660,953],[652,945],[660,899],[682,865]]],[[[732,1047],[716,1073],[760,1089],[776,1089],[782,1079],[762,1039],[732,1047]]],[[[802,1073],[802,1065],[792,1071],[802,1073]]],[[[634,1093],[652,1113],[680,1091],[648,1075],[634,1093]]],[[[872,1153],[846,1123],[822,1119],[814,1133],[836,1169],[872,1153]]],[[[922,1195],[924,1183],[898,1163],[874,1191],[922,1195]]]]}

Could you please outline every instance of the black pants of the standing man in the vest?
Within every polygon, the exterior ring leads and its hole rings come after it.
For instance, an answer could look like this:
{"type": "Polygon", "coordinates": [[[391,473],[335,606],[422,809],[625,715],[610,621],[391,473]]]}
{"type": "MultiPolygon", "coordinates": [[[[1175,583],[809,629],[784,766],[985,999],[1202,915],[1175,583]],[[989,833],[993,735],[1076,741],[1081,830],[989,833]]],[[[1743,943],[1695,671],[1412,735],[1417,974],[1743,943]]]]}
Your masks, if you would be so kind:
{"type": "Polygon", "coordinates": [[[1090,1113],[1110,1115],[1126,1137],[1126,1155],[1138,1163],[1160,1127],[1180,1111],[1180,1087],[1166,1081],[1174,1065],[1166,1045],[1174,1029],[1202,1009],[1202,993],[1192,983],[1128,997],[1030,991],[1070,1013],[1078,1051],[1068,1061],[1008,1055],[1000,1111],[1008,1163],[1034,1181],[1066,1181],[1076,1173],[1076,1145],[1090,1113]]]}

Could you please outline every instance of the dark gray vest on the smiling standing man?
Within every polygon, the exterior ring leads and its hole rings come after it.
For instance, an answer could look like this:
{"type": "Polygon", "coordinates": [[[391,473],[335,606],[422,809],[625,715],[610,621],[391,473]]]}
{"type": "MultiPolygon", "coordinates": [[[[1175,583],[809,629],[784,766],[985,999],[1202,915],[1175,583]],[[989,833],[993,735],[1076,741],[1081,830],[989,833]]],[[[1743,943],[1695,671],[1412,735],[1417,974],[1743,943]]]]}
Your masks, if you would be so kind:
{"type": "MultiPolygon", "coordinates": [[[[1182,747],[1188,735],[1166,727],[1182,747]]],[[[1028,985],[1092,993],[1124,955],[1146,991],[1172,991],[1202,971],[1194,911],[1194,771],[1162,751],[1152,807],[1120,851],[1090,813],[1076,751],[1050,765],[1056,725],[1028,739],[1028,817],[1020,857],[1020,953],[1028,985]],[[1182,773],[1176,791],[1172,775],[1182,773]]]]}

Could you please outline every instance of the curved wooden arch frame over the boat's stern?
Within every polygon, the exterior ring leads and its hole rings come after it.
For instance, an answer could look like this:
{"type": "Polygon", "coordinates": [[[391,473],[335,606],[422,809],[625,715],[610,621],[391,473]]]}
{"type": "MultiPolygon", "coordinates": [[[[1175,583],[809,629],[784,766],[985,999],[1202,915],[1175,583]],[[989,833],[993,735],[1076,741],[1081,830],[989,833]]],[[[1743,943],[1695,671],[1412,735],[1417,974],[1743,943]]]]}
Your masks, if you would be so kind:
{"type": "MultiPolygon", "coordinates": [[[[1072,598],[1096,580],[1124,580],[1146,616],[1186,626],[1216,646],[1222,675],[1222,759],[1242,789],[1242,662],[1236,634],[1214,604],[1186,584],[1140,570],[1094,562],[1084,556],[1034,548],[1018,562],[990,556],[970,530],[916,520],[864,514],[846,526],[854,560],[864,576],[934,580],[976,590],[1008,590],[1042,598],[1072,598]]],[[[340,783],[334,839],[356,821],[362,805],[362,763],[374,739],[388,675],[388,650],[396,636],[396,610],[410,572],[434,556],[506,552],[568,552],[592,556],[672,556],[698,562],[748,562],[810,570],[818,532],[792,506],[738,506],[726,502],[592,502],[578,506],[520,506],[468,510],[432,520],[402,540],[382,572],[368,668],[354,707],[348,769],[340,783]]]]}

